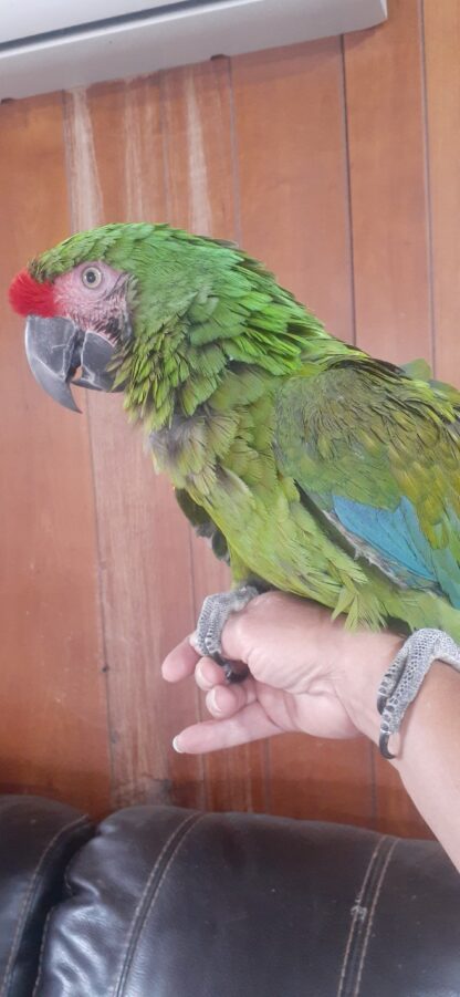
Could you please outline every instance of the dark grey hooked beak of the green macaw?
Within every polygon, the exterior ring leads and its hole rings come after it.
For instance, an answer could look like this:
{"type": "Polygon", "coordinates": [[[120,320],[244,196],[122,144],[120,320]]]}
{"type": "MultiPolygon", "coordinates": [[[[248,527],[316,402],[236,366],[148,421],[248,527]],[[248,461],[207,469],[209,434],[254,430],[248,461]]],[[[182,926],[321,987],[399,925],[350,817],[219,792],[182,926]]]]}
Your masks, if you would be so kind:
{"type": "MultiPolygon", "coordinates": [[[[66,408],[80,412],[70,382],[95,391],[112,391],[115,372],[107,371],[115,344],[97,332],[83,332],[70,319],[29,315],[25,353],[40,386],[66,408]],[[81,376],[74,374],[81,370],[81,376]]],[[[122,391],[119,385],[115,391],[122,391]]]]}

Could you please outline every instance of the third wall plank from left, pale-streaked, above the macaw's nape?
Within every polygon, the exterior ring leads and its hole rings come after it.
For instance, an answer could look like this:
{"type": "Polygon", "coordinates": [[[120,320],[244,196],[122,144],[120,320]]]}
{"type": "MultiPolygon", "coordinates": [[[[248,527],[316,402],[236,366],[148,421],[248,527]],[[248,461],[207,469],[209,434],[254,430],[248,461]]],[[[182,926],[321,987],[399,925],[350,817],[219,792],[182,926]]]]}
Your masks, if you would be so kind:
{"type": "MultiPolygon", "coordinates": [[[[234,239],[239,215],[228,60],[165,73],[161,94],[168,220],[202,235],[234,239]]],[[[205,596],[228,589],[230,577],[192,532],[191,558],[197,619],[205,596]]],[[[264,745],[205,757],[203,776],[210,809],[266,810],[264,745]]]]}

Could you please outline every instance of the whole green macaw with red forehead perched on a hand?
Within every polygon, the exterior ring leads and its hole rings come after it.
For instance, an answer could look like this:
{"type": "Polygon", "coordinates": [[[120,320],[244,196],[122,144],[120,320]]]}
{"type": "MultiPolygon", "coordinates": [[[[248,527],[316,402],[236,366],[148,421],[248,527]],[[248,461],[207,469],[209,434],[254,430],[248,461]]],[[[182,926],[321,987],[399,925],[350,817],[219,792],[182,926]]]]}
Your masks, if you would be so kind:
{"type": "MultiPolygon", "coordinates": [[[[460,643],[460,393],[426,365],[334,339],[236,246],[167,225],[72,236],[10,300],[39,383],[73,408],[71,382],[123,390],[181,508],[228,557],[236,591],[205,604],[203,652],[220,660],[228,613],[263,585],[352,627],[436,629],[438,656],[439,631],[460,643]]],[[[420,684],[408,652],[380,697],[386,754],[407,668],[420,684]]]]}

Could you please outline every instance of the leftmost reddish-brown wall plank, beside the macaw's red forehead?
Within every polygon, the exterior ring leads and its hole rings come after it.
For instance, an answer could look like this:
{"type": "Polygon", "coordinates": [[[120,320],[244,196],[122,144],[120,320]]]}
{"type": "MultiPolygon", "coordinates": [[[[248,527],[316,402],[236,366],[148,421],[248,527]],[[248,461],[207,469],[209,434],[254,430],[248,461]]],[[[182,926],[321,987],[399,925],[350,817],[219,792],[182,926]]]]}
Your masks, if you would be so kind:
{"type": "Polygon", "coordinates": [[[101,814],[108,754],[87,425],[56,418],[6,299],[13,273],[69,229],[61,98],[2,105],[0,132],[0,789],[101,814]]]}

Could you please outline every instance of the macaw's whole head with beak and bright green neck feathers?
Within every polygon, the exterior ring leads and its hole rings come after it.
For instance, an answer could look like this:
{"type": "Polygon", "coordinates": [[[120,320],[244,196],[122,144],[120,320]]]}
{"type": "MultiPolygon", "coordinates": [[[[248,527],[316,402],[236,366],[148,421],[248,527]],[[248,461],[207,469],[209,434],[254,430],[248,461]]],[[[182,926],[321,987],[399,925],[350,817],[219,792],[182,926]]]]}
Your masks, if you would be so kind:
{"type": "MultiPolygon", "coordinates": [[[[106,225],[32,260],[10,287],[39,384],[124,391],[147,432],[192,415],[241,364],[285,374],[321,323],[233,243],[168,225],[106,225]]],[[[327,337],[328,339],[328,337],[327,337]]],[[[254,388],[255,390],[255,388],[254,388]]]]}

